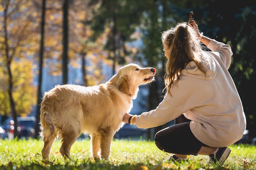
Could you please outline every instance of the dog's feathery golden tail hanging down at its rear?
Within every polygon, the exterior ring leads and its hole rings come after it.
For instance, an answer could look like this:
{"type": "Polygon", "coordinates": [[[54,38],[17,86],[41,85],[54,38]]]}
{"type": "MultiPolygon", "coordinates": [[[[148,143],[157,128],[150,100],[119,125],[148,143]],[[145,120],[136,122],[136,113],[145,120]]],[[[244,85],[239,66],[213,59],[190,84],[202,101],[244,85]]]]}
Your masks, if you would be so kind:
{"type": "Polygon", "coordinates": [[[54,123],[51,118],[51,113],[47,111],[41,110],[40,114],[40,121],[43,127],[42,132],[40,133],[40,136],[43,138],[43,141],[47,142],[49,139],[52,139],[52,136],[56,137],[56,132],[54,128],[54,123]]]}

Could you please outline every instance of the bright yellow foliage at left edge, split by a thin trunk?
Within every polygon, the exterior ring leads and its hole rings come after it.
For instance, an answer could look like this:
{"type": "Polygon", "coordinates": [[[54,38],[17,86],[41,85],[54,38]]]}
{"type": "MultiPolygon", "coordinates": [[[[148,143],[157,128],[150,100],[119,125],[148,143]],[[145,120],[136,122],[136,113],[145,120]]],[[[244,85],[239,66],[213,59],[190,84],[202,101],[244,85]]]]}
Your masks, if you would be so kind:
{"type": "MultiPolygon", "coordinates": [[[[11,64],[11,72],[13,76],[13,99],[16,104],[16,111],[18,115],[21,113],[30,113],[32,106],[36,104],[36,87],[32,86],[33,71],[32,64],[28,60],[15,61],[11,64]]],[[[1,82],[0,86],[0,114],[8,114],[10,111],[8,79],[9,75],[6,73],[4,66],[0,67],[1,82]]]]}

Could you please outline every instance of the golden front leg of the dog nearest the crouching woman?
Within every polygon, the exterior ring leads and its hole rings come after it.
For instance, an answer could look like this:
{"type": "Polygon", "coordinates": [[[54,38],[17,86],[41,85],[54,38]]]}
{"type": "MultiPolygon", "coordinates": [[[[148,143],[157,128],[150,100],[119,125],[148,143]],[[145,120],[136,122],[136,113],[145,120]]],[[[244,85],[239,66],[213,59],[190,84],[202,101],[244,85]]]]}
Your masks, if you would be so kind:
{"type": "Polygon", "coordinates": [[[108,160],[114,135],[115,132],[111,128],[101,129],[101,159],[108,160]]]}

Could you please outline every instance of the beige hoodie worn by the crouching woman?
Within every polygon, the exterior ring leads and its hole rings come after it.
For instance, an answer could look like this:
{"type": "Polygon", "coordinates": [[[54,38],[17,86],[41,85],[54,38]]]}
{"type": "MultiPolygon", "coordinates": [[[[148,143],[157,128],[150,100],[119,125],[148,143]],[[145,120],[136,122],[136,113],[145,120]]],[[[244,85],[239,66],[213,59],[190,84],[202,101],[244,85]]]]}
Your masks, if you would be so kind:
{"type": "MultiPolygon", "coordinates": [[[[243,105],[227,69],[231,63],[231,48],[211,40],[207,52],[212,62],[207,76],[190,62],[181,71],[171,95],[166,94],[156,109],[136,117],[138,128],[163,125],[184,114],[192,120],[190,128],[195,137],[211,147],[225,147],[242,138],[246,128],[243,105]]],[[[189,142],[189,141],[188,141],[189,142]]]]}

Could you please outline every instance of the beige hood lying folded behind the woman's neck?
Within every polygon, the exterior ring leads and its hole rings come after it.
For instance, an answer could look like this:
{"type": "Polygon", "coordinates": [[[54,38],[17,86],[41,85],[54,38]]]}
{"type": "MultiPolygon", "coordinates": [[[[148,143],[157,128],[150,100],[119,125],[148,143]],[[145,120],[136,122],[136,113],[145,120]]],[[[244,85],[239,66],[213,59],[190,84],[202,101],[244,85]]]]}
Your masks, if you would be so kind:
{"type": "Polygon", "coordinates": [[[186,65],[186,67],[181,71],[181,75],[186,75],[197,79],[214,79],[216,76],[216,63],[214,61],[206,62],[203,64],[203,66],[206,69],[206,76],[198,69],[197,64],[193,61],[186,65]]]}

